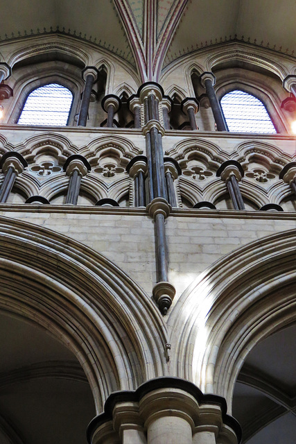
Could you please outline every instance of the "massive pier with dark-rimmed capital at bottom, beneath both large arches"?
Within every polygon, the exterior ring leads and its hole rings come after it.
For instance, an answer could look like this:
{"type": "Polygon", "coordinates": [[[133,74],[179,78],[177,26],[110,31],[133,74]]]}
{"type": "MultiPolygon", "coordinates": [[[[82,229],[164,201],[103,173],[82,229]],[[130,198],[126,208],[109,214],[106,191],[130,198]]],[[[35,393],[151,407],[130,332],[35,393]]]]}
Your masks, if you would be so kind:
{"type": "Polygon", "coordinates": [[[238,444],[241,427],[224,398],[180,378],[159,377],[117,392],[89,424],[89,444],[238,444]]]}

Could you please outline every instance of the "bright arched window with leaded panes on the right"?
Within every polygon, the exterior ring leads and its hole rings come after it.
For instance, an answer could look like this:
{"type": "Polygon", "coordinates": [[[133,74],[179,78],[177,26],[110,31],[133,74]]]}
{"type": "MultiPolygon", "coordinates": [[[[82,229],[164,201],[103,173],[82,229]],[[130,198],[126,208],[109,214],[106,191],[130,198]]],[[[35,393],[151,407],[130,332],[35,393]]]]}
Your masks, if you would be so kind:
{"type": "Polygon", "coordinates": [[[275,134],[275,126],[263,103],[247,92],[236,89],[225,94],[221,106],[229,131],[275,134]]]}

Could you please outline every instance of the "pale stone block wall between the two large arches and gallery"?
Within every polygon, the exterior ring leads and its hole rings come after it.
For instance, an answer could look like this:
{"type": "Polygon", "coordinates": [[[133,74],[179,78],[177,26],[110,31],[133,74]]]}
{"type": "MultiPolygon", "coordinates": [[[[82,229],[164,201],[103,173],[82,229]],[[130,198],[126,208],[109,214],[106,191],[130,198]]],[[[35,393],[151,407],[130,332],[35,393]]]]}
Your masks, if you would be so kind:
{"type": "MultiPolygon", "coordinates": [[[[154,224],[145,210],[2,206],[1,216],[60,232],[101,253],[150,295],[155,284],[154,224]],[[58,212],[58,209],[61,210],[58,212]]],[[[224,255],[265,236],[296,228],[296,215],[263,212],[175,210],[166,220],[169,278],[177,293],[224,255]]]]}

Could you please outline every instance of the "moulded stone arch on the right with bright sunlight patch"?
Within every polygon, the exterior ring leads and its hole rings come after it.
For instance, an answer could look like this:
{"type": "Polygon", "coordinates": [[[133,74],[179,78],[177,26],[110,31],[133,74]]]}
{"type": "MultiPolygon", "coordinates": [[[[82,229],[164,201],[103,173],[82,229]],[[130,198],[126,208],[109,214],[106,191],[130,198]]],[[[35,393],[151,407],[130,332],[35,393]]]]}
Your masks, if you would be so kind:
{"type": "Polygon", "coordinates": [[[295,259],[296,230],[290,230],[238,248],[204,271],[169,319],[177,375],[224,396],[231,409],[247,354],[296,321],[295,259]]]}

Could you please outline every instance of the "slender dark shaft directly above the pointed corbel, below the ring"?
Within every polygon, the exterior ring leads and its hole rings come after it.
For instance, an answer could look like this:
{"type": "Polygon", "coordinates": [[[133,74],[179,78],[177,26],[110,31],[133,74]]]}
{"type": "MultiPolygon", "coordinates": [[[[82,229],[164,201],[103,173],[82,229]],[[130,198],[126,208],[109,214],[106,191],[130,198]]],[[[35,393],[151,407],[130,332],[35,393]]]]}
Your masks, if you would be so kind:
{"type": "Polygon", "coordinates": [[[166,251],[166,233],[164,228],[164,215],[155,216],[155,250],[157,282],[168,281],[168,259],[166,251]]]}

